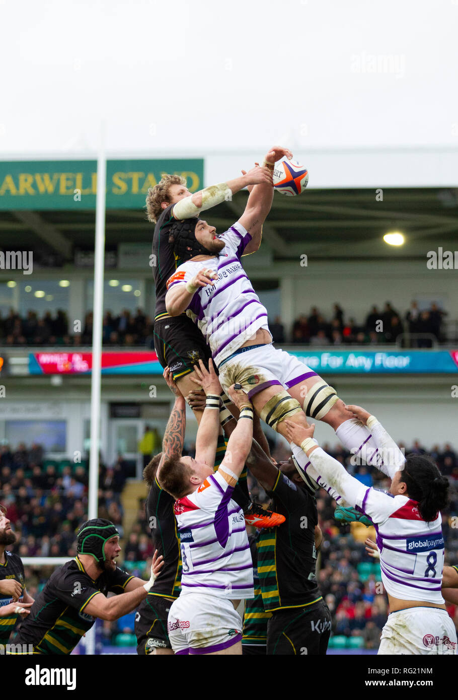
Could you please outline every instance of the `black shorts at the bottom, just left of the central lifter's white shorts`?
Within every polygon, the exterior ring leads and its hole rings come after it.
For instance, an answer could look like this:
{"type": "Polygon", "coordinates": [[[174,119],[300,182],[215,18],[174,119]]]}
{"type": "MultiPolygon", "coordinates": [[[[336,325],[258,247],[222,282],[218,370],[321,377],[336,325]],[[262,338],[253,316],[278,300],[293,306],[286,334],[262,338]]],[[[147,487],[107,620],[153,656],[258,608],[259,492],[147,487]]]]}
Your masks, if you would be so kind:
{"type": "Polygon", "coordinates": [[[172,603],[170,598],[146,596],[135,615],[137,654],[145,656],[157,648],[172,648],[167,633],[167,617],[172,603]]]}

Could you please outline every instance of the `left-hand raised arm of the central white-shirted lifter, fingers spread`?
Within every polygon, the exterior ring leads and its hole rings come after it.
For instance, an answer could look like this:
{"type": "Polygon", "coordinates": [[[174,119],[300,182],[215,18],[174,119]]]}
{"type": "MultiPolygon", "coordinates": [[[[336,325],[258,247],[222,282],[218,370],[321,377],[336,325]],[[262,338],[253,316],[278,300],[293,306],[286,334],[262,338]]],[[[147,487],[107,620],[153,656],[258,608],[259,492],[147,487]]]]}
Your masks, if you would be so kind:
{"type": "Polygon", "coordinates": [[[208,370],[199,360],[194,366],[196,378],[194,384],[201,386],[206,394],[206,406],[203,411],[196,437],[196,460],[205,462],[209,467],[215,464],[218,434],[220,433],[220,392],[221,384],[213,369],[212,360],[208,360],[208,370]]]}

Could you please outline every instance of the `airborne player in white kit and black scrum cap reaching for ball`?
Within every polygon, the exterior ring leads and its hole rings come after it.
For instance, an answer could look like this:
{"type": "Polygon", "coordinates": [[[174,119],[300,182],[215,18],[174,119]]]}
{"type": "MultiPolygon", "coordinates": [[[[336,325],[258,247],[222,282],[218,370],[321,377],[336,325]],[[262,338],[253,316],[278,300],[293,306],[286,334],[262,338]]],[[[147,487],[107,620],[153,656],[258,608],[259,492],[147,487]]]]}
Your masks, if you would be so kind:
{"type": "Polygon", "coordinates": [[[366,463],[380,465],[370,431],[345,409],[335,389],[271,344],[267,311],[243,270],[241,256],[259,247],[272,198],[271,183],[255,186],[241,218],[222,235],[197,218],[171,226],[173,251],[183,264],[167,282],[167,312],[192,314],[210,345],[224,390],[241,384],[271,428],[285,436],[285,418],[306,424],[306,414],[328,423],[347,449],[364,454],[366,463]]]}

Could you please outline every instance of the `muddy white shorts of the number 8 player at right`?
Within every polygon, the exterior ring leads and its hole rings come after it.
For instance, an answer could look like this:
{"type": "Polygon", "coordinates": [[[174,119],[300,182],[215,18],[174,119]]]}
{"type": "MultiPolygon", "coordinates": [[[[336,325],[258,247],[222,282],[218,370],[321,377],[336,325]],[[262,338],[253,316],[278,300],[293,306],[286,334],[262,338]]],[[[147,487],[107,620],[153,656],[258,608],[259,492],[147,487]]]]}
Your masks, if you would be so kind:
{"type": "Polygon", "coordinates": [[[406,608],[388,615],[379,654],[456,654],[457,632],[447,610],[406,608]]]}

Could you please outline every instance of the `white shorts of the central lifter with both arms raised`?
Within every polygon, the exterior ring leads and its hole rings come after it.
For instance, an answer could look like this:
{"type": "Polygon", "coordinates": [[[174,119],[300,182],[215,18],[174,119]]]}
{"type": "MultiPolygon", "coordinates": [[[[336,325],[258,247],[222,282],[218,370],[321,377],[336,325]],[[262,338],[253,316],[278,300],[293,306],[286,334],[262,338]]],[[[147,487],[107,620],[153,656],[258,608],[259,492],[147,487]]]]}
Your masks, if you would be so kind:
{"type": "Polygon", "coordinates": [[[241,641],[243,623],[229,598],[182,593],[171,605],[167,629],[176,654],[210,654],[241,641]]]}

